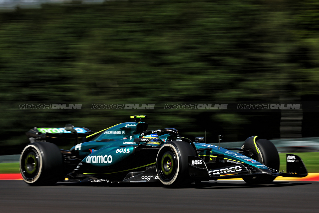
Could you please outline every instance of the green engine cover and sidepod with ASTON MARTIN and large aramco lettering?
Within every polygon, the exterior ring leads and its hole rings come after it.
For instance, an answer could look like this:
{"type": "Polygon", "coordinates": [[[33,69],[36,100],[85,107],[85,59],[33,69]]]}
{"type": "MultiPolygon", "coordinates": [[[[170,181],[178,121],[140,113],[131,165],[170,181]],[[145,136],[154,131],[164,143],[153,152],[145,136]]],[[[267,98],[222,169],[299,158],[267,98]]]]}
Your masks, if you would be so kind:
{"type": "MultiPolygon", "coordinates": [[[[141,180],[142,176],[150,175],[150,172],[151,175],[156,176],[155,161],[161,143],[137,144],[134,142],[134,139],[142,137],[145,130],[147,130],[147,123],[126,122],[87,136],[85,140],[90,141],[79,143],[70,150],[72,155],[81,159],[81,162],[67,177],[69,180],[90,177],[98,180],[131,182],[138,181],[136,179],[141,180]]],[[[149,134],[154,131],[150,131],[149,134]]],[[[167,132],[173,132],[178,136],[176,129],[168,128],[160,131],[164,133],[159,136],[163,143],[174,139],[172,133],[167,132]]],[[[158,179],[141,181],[153,182],[158,179]]]]}

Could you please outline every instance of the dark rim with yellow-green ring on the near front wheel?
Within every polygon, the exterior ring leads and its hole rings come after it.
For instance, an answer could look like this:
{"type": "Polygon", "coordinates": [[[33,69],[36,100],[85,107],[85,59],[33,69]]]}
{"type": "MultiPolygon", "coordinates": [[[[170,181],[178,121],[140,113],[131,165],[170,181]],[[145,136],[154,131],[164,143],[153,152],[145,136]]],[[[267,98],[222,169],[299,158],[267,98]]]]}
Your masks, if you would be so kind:
{"type": "Polygon", "coordinates": [[[168,182],[174,178],[177,172],[176,155],[170,148],[162,150],[160,154],[162,157],[160,162],[158,162],[160,164],[158,175],[161,180],[168,182]]]}

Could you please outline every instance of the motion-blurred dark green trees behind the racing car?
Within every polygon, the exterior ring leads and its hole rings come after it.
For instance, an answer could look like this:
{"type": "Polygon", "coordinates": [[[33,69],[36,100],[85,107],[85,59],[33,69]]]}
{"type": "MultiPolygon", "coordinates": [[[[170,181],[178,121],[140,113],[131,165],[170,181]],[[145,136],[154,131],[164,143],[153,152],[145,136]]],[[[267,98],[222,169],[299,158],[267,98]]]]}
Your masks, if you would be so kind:
{"type": "Polygon", "coordinates": [[[33,127],[100,131],[133,114],[207,143],[317,137],[318,30],[316,0],[0,0],[0,154],[20,153],[33,127]],[[301,107],[165,109],[243,102],[301,107]]]}

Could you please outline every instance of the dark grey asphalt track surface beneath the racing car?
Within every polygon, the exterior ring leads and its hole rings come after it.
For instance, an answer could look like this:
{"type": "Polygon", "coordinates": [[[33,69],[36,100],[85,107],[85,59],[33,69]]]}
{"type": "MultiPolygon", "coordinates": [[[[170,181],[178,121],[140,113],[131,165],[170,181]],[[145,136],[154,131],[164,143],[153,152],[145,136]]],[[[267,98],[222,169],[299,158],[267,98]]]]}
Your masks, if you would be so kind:
{"type": "Polygon", "coordinates": [[[319,182],[207,181],[200,187],[0,181],[0,212],[319,212],[319,182]]]}

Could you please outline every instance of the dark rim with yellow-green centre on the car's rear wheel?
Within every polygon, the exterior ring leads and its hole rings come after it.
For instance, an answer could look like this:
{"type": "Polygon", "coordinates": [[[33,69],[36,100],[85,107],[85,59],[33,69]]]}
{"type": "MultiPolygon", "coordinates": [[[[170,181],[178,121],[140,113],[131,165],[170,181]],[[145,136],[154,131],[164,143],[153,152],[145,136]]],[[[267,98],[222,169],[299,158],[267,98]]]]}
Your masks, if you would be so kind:
{"type": "Polygon", "coordinates": [[[27,149],[20,160],[21,174],[26,180],[33,180],[39,172],[40,159],[38,152],[33,149],[27,149]]]}

